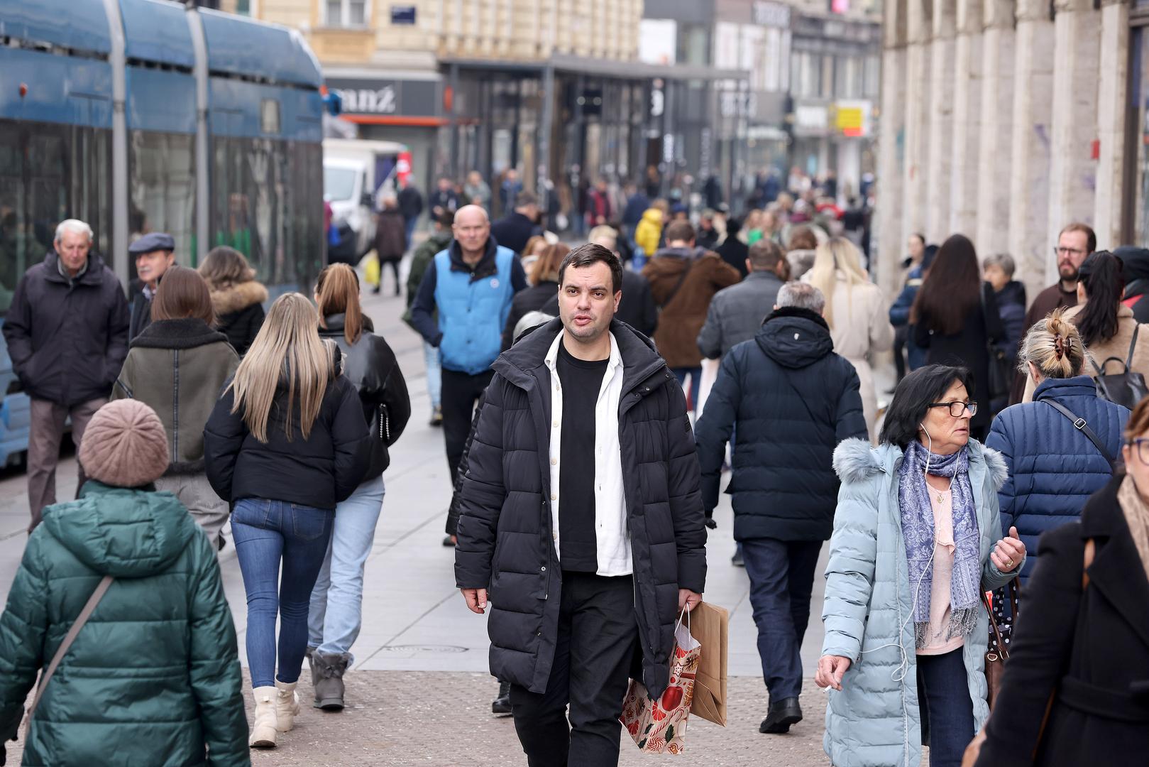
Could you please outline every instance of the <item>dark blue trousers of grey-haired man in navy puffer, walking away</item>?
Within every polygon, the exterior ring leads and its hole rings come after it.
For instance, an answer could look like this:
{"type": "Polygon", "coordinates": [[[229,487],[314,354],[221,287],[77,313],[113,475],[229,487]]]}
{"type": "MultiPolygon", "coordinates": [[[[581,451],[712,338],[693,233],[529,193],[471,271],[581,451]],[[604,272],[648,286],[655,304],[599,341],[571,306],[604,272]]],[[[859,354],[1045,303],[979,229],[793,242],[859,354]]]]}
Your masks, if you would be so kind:
{"type": "Polygon", "coordinates": [[[810,593],[820,540],[742,540],[750,605],[758,627],[758,657],[770,701],[802,691],[802,638],[810,622],[810,593]]]}

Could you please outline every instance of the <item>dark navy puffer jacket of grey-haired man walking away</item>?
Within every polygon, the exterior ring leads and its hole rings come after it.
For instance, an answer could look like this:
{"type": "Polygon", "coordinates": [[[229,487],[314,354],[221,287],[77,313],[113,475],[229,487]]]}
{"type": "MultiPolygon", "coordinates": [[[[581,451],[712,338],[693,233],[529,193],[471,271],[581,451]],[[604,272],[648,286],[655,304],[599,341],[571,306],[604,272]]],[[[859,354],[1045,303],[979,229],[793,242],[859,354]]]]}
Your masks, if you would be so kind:
{"type": "Polygon", "coordinates": [[[731,429],[734,539],[827,540],[838,505],[834,447],[869,439],[858,374],[834,354],[826,321],[808,309],[774,310],[753,340],[723,358],[699,419],[702,500],[718,505],[731,429]]]}

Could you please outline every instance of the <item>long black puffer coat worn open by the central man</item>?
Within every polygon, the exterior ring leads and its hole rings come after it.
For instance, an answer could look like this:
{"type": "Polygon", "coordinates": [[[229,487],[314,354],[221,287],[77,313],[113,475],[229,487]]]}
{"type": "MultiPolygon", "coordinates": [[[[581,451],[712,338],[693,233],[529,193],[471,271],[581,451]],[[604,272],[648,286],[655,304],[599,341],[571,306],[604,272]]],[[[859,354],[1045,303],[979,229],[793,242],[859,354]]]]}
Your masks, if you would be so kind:
{"type": "MultiPolygon", "coordinates": [[[[543,361],[558,320],[494,363],[463,481],[455,580],[491,589],[491,673],[532,692],[550,677],[562,570],[550,530],[550,373],[543,361]],[[552,597],[554,597],[552,599],[552,597]]],[[[623,358],[618,414],[626,517],[634,562],[642,675],[662,695],[678,619],[678,590],[705,585],[699,465],[683,390],[654,345],[610,327],[623,358]]]]}

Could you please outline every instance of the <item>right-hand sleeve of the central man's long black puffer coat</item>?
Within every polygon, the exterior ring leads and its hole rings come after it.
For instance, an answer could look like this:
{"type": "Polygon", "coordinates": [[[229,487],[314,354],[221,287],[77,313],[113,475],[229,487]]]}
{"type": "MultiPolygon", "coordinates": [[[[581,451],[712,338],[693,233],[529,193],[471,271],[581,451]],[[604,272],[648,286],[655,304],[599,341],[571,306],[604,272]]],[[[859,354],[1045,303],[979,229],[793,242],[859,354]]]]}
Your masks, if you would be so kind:
{"type": "Polygon", "coordinates": [[[699,486],[699,452],[691,420],[686,415],[683,389],[673,382],[663,389],[669,397],[666,478],[670,485],[670,517],[678,549],[678,588],[702,593],[707,585],[707,528],[699,486]]]}

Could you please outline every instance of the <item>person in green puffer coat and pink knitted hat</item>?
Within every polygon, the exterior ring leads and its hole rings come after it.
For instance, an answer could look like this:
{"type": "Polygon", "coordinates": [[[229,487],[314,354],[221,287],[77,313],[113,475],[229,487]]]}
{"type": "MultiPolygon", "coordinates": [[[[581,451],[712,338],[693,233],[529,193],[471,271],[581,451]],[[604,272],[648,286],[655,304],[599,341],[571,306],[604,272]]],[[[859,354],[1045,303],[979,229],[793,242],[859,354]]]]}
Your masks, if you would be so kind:
{"type": "Polygon", "coordinates": [[[152,485],[168,468],[160,419],[137,400],[105,405],[79,461],[88,477],[79,499],[45,509],[0,616],[0,746],[17,735],[37,672],[110,575],[44,688],[22,764],[249,765],[215,549],[176,497],[152,485]]]}

